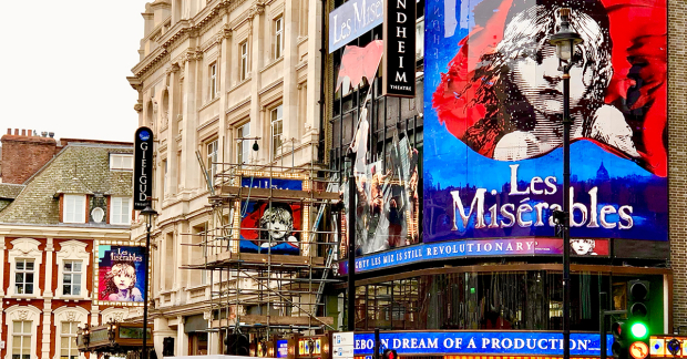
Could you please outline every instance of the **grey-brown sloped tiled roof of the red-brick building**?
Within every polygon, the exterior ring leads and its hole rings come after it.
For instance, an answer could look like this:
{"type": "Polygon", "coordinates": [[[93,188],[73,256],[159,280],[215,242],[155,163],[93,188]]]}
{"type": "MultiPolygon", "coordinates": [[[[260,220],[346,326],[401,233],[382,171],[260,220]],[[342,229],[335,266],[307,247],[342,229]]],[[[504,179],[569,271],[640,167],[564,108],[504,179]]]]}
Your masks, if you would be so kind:
{"type": "Polygon", "coordinates": [[[60,194],[133,196],[133,172],[110,171],[110,153],[133,154],[133,146],[68,144],[24,183],[23,191],[0,212],[0,223],[59,224],[60,194]]]}

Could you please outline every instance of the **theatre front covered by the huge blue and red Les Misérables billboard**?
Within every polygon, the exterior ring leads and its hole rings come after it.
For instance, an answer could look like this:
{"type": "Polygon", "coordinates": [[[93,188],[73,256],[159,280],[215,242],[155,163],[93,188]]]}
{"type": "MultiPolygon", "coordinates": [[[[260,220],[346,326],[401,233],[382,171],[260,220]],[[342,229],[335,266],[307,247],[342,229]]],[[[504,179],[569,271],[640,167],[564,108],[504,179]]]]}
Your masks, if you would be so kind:
{"type": "Polygon", "coordinates": [[[357,196],[355,322],[369,334],[355,355],[372,352],[375,328],[401,356],[561,355],[563,250],[572,355],[599,356],[599,293],[605,309],[628,309],[633,280],[648,281],[650,334],[673,332],[666,0],[422,0],[417,12],[416,99],[356,81],[381,25],[353,20],[329,57],[329,155],[357,188],[344,198],[357,196]],[[584,40],[570,71],[570,248],[552,217],[565,191],[563,72],[548,44],[561,7],[584,40]]]}

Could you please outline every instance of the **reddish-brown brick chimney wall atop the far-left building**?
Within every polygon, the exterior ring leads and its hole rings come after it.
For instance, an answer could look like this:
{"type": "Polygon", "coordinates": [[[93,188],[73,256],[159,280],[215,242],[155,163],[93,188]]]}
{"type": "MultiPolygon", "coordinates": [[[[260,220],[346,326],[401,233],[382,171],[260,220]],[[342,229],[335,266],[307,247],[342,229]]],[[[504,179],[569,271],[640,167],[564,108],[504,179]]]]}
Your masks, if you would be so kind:
{"type": "Polygon", "coordinates": [[[2,183],[21,184],[40,170],[58,150],[51,137],[31,135],[31,130],[8,129],[2,141],[2,183]]]}

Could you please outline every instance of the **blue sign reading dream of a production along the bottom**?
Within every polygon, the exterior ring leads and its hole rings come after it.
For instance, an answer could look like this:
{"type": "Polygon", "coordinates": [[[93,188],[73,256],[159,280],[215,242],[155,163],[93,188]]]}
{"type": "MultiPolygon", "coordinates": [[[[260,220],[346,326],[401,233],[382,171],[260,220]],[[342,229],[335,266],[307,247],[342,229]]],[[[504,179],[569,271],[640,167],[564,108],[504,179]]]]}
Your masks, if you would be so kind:
{"type": "MultiPolygon", "coordinates": [[[[571,334],[572,356],[601,356],[598,334],[571,334]]],[[[607,335],[607,356],[613,336],[607,335]]],[[[399,355],[537,355],[562,356],[563,334],[536,331],[382,332],[382,349],[399,355]]],[[[355,356],[373,352],[375,334],[355,335],[355,356]]]]}

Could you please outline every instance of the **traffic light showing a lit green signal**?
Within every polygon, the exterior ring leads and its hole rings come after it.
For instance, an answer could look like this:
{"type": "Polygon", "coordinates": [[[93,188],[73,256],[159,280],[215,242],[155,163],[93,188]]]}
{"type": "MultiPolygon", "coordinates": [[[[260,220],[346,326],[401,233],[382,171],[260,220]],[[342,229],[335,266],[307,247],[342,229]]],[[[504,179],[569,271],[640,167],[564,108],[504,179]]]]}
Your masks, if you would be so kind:
{"type": "Polygon", "coordinates": [[[649,343],[649,283],[629,280],[627,283],[627,319],[630,324],[633,341],[649,343]]]}

